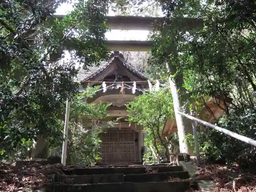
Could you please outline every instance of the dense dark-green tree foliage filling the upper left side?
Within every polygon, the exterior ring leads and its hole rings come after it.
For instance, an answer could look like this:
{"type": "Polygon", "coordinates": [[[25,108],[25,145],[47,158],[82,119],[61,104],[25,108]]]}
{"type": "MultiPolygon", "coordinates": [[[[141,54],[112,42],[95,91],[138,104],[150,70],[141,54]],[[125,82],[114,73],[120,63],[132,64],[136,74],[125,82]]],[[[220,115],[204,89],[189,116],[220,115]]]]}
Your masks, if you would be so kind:
{"type": "Polygon", "coordinates": [[[52,20],[63,2],[1,1],[2,154],[9,155],[22,141],[36,141],[36,135],[59,138],[63,105],[79,87],[75,66],[87,69],[108,57],[103,45],[108,4],[78,2],[64,19],[52,20]],[[75,49],[73,59],[62,62],[58,57],[67,44],[75,49]]]}

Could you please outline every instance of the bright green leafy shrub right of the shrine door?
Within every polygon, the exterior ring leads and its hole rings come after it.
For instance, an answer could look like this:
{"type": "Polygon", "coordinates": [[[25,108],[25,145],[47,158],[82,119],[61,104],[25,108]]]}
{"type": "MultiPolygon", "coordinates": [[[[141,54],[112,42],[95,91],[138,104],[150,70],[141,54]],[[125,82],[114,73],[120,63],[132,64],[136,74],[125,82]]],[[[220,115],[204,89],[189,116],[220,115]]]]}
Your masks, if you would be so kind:
{"type": "MultiPolygon", "coordinates": [[[[172,95],[168,89],[161,89],[150,93],[144,93],[136,97],[135,101],[127,104],[127,112],[130,122],[143,126],[146,133],[144,145],[148,148],[148,154],[144,154],[147,160],[152,154],[150,146],[153,146],[156,154],[165,154],[169,157],[169,140],[162,135],[162,129],[167,118],[173,118],[172,95]]],[[[169,136],[172,137],[172,136],[169,136]]]]}

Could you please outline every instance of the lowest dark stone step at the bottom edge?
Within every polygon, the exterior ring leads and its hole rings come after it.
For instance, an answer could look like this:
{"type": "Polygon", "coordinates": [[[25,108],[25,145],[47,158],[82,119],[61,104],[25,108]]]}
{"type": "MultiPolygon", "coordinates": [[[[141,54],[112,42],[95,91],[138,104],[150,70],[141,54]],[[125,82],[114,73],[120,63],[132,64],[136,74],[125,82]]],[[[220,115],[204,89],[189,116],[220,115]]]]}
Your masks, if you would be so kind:
{"type": "Polygon", "coordinates": [[[83,185],[54,185],[47,189],[61,192],[183,192],[189,189],[188,181],[181,182],[146,182],[146,183],[100,183],[83,185]]]}

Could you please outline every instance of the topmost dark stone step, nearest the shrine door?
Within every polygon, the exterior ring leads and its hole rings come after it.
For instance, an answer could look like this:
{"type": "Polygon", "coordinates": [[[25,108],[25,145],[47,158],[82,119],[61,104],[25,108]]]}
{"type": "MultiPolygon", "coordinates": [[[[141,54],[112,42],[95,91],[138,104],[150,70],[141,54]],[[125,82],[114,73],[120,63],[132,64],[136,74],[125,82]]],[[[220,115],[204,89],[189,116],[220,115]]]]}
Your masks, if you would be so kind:
{"type": "Polygon", "coordinates": [[[182,166],[130,166],[130,167],[88,167],[62,169],[64,175],[107,175],[107,174],[144,174],[147,170],[156,170],[157,173],[181,172],[182,166]]]}

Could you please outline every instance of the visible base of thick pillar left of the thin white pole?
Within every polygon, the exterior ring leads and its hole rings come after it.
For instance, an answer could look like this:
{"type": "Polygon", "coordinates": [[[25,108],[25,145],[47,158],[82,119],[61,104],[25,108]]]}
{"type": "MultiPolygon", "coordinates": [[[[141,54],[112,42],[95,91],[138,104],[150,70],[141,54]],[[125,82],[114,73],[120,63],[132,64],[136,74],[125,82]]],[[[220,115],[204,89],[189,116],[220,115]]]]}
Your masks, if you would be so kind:
{"type": "Polygon", "coordinates": [[[47,159],[49,156],[49,139],[41,134],[36,135],[37,140],[33,143],[32,159],[47,159]]]}

